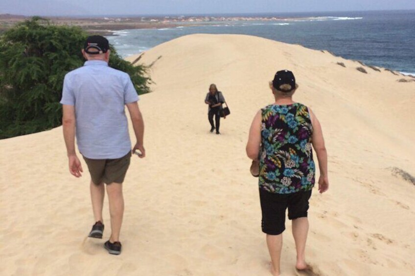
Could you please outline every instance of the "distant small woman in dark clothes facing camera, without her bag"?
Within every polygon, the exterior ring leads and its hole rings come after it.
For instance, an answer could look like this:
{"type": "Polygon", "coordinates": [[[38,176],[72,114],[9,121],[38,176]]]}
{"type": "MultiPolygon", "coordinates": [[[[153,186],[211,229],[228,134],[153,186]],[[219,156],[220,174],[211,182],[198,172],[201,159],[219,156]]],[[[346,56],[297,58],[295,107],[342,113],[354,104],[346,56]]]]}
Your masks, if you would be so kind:
{"type": "Polygon", "coordinates": [[[222,109],[222,104],[225,103],[225,98],[221,91],[218,91],[218,88],[215,84],[209,86],[209,92],[206,95],[205,103],[208,107],[208,119],[210,123],[210,132],[215,130],[215,124],[213,124],[213,116],[215,116],[216,123],[216,134],[220,134],[220,111],[222,109]]]}

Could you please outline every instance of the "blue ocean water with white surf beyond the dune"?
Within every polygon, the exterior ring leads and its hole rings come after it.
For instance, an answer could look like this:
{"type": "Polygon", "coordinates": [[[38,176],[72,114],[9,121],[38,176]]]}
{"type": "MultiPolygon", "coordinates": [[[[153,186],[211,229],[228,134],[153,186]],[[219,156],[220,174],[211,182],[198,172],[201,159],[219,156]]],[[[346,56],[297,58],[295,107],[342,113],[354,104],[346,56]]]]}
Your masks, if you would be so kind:
{"type": "Polygon", "coordinates": [[[210,21],[197,26],[181,23],[173,28],[116,31],[117,35],[108,39],[122,57],[127,57],[188,34],[254,35],[328,50],[346,59],[415,75],[415,10],[228,16],[288,20],[210,21]]]}

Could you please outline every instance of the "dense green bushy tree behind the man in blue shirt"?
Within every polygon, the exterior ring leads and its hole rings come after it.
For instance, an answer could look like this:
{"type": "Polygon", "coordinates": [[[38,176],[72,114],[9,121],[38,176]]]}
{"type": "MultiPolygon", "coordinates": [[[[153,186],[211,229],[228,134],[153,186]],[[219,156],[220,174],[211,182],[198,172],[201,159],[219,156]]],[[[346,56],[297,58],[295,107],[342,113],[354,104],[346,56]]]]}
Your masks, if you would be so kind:
{"type": "MultiPolygon", "coordinates": [[[[61,125],[65,74],[83,65],[88,34],[40,17],[17,24],[0,37],[0,139],[61,125]]],[[[109,65],[127,72],[138,94],[150,92],[144,65],[133,66],[111,48],[109,65]]]]}

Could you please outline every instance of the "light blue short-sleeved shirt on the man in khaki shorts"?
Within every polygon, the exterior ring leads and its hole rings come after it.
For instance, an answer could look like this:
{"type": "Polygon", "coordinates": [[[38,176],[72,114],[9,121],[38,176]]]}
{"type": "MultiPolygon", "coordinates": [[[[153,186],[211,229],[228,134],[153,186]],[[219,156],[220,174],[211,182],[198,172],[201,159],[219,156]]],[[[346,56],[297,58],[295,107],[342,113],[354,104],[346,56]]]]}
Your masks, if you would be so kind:
{"type": "Polygon", "coordinates": [[[116,159],[131,150],[125,104],[138,101],[130,76],[105,61],[87,61],[65,75],[62,105],[75,106],[76,141],[90,159],[116,159]]]}

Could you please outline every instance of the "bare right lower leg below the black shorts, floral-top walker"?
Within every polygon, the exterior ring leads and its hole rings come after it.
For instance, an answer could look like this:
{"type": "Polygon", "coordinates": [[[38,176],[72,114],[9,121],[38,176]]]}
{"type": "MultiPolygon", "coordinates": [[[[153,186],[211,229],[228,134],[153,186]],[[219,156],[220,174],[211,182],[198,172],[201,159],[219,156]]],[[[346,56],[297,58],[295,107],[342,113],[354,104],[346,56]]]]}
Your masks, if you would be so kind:
{"type": "Polygon", "coordinates": [[[297,250],[297,269],[305,269],[307,264],[305,262],[305,243],[307,241],[308,234],[308,218],[299,217],[293,219],[292,222],[293,236],[296,241],[297,250]]]}

